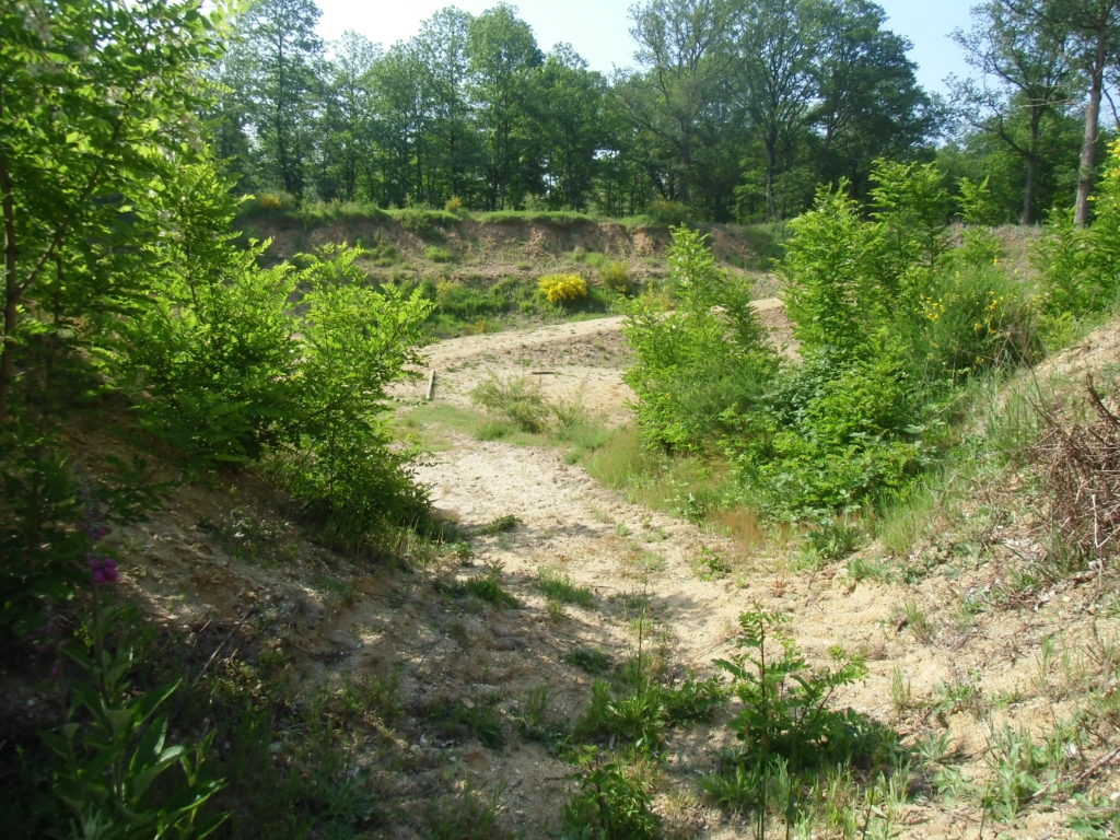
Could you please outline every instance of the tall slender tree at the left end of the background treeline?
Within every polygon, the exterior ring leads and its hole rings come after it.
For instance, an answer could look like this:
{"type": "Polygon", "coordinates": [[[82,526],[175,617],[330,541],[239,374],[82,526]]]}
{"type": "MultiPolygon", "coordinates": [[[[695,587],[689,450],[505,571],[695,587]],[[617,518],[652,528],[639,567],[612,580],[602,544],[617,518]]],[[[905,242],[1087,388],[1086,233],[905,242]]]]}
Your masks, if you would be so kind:
{"type": "Polygon", "coordinates": [[[237,21],[250,62],[249,122],[268,175],[301,200],[312,149],[323,40],[311,0],[259,0],[237,21]]]}

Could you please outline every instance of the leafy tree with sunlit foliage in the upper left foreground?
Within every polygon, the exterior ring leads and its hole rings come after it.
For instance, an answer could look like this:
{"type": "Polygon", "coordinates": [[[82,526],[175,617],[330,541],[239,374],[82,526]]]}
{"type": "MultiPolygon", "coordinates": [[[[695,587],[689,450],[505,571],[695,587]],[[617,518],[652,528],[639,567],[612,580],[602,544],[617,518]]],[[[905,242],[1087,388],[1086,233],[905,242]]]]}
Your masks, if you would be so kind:
{"type": "Polygon", "coordinates": [[[34,346],[94,334],[136,305],[143,272],[118,270],[131,259],[128,196],[159,192],[161,167],[192,155],[196,73],[220,48],[221,16],[200,6],[0,7],[0,423],[20,377],[45,375],[34,346]]]}

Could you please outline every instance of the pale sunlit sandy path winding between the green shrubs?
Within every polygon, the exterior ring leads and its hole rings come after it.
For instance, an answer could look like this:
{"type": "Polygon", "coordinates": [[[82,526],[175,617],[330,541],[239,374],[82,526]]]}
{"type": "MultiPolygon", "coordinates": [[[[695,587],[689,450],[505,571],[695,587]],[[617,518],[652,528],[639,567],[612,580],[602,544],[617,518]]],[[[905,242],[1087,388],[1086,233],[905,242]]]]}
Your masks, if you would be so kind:
{"type": "MultiPolygon", "coordinates": [[[[756,302],[780,315],[776,298],[756,302]]],[[[579,399],[614,421],[624,421],[633,394],[622,380],[629,353],[623,318],[561,324],[532,330],[455,338],[427,348],[437,371],[436,402],[469,404],[485,376],[538,374],[552,399],[579,399]]],[[[414,395],[427,388],[416,386],[414,395]]],[[[689,668],[710,663],[736,618],[750,603],[732,577],[704,581],[694,566],[704,551],[728,556],[732,543],[684,520],[626,502],[587,473],[562,460],[560,450],[456,436],[452,446],[418,470],[437,508],[466,525],[514,515],[521,526],[479,545],[484,562],[512,579],[531,581],[542,566],[560,567],[579,586],[605,598],[641,590],[673,648],[689,668]]],[[[626,643],[625,627],[612,632],[626,643]]]]}

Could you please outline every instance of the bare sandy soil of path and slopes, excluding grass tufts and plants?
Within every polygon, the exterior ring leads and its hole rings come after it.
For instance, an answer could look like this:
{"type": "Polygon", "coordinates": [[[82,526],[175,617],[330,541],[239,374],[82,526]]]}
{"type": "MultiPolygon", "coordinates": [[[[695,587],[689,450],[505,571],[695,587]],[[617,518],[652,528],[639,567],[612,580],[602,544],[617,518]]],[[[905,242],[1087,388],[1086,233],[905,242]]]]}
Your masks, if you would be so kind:
{"type": "MultiPolygon", "coordinates": [[[[782,328],[777,301],[760,301],[759,309],[782,328]]],[[[528,374],[556,399],[579,399],[613,423],[628,422],[622,382],[627,352],[618,326],[607,318],[433,345],[427,364],[436,371],[435,403],[465,407],[483,377],[528,374]]],[[[1096,348],[1114,358],[1118,335],[1103,330],[1053,364],[1073,370],[1096,362],[1096,348]]],[[[423,380],[398,396],[416,403],[427,385],[423,380]]],[[[865,568],[899,571],[885,582],[856,573],[851,562],[799,570],[781,539],[743,544],[635,505],[556,450],[440,433],[451,446],[417,469],[436,507],[467,529],[507,516],[517,522],[507,532],[476,535],[461,559],[437,558],[414,572],[356,569],[304,540],[263,487],[240,484],[180,489],[152,521],[119,531],[129,558],[125,580],[152,614],[177,625],[264,628],[263,643],[290,655],[298,683],[368,683],[399,668],[405,717],[382,734],[368,762],[402,813],[422,813],[432,791],[469,785],[501,793],[510,828],[548,836],[575,788],[575,768],[516,735],[514,720],[530,693],[544,687],[550,718],[577,718],[591,678],[564,657],[587,647],[618,664],[641,645],[671,673],[709,673],[711,661],[732,650],[738,616],[762,606],[791,618],[812,661],[825,661],[837,644],[867,657],[867,679],[836,704],[896,729],[908,743],[949,732],[946,760],[962,774],[964,790],[946,801],[916,774],[898,837],[1074,836],[1067,825],[1073,803],[1028,803],[1025,815],[993,824],[974,795],[992,777],[990,746],[1005,724],[1048,732],[1081,708],[1091,688],[1114,692],[1120,664],[1113,659],[1120,659],[1114,577],[1095,570],[1010,586],[1040,551],[1020,524],[1026,512],[1016,510],[1012,494],[984,491],[967,506],[971,513],[946,520],[909,557],[892,557],[881,547],[861,551],[857,560],[865,568]],[[701,579],[698,561],[706,556],[724,558],[730,572],[701,579]],[[591,589],[594,606],[550,610],[534,586],[545,567],[591,589]],[[452,598],[433,586],[494,570],[517,607],[452,598]],[[641,633],[640,617],[652,622],[641,633]],[[1056,645],[1056,659],[1044,657],[1046,644],[1056,645]],[[907,687],[905,702],[900,685],[907,687]],[[946,700],[952,690],[964,699],[946,700]],[[455,702],[493,706],[506,745],[491,749],[435,727],[439,710],[455,702]]],[[[1114,801],[1120,776],[1113,762],[1094,764],[1114,745],[1114,722],[1090,729],[1095,735],[1085,736],[1076,756],[1081,786],[1114,801]]],[[[700,774],[716,767],[717,750],[728,743],[721,724],[672,736],[657,797],[671,836],[730,840],[749,833],[741,819],[710,806],[699,791],[700,774]]],[[[282,739],[278,744],[282,749],[282,739]]],[[[373,836],[418,837],[407,820],[373,836]]]]}

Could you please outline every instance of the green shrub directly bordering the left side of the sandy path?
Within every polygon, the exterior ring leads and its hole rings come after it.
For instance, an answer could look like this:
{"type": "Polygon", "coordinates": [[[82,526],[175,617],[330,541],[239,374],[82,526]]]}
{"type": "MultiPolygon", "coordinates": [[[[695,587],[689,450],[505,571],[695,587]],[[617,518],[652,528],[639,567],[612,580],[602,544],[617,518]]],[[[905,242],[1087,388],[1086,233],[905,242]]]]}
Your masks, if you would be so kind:
{"type": "Polygon", "coordinates": [[[272,466],[305,510],[332,530],[363,534],[414,520],[427,500],[409,477],[412,454],[390,446],[385,389],[417,361],[431,305],[419,291],[362,286],[355,249],[304,255],[296,371],[298,447],[272,466]]]}

